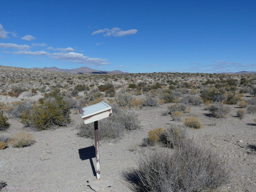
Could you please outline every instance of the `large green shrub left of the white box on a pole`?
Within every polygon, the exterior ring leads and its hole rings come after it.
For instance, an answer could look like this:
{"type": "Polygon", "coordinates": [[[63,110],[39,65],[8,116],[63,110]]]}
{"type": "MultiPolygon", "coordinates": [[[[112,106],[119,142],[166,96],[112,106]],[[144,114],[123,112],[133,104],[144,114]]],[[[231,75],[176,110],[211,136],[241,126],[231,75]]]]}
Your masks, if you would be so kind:
{"type": "Polygon", "coordinates": [[[21,122],[38,130],[50,129],[54,125],[66,126],[70,123],[69,109],[62,97],[47,98],[42,106],[23,111],[21,122]]]}

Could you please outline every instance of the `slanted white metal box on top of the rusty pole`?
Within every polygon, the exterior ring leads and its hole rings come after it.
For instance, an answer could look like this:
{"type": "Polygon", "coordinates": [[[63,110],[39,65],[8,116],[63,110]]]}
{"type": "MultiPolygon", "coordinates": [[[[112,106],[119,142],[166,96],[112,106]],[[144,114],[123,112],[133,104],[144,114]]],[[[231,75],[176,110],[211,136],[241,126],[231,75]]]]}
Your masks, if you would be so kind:
{"type": "Polygon", "coordinates": [[[100,102],[79,109],[79,113],[82,120],[84,120],[84,124],[88,124],[112,116],[112,108],[105,102],[100,102]]]}

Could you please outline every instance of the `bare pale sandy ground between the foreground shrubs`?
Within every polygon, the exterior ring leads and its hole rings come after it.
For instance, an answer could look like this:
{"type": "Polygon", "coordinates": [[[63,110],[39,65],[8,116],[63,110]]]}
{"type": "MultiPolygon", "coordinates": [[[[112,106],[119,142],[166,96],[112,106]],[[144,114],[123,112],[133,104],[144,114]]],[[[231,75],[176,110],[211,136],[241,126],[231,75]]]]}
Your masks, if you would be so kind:
{"type": "MultiPolygon", "coordinates": [[[[34,136],[36,143],[25,148],[9,146],[1,150],[0,161],[7,163],[0,167],[0,178],[8,187],[37,187],[38,192],[130,192],[122,172],[136,167],[138,156],[150,148],[140,146],[149,130],[167,128],[173,123],[170,115],[162,115],[168,105],[138,110],[142,128],[116,140],[100,141],[100,180],[94,176],[95,158],[92,158],[93,165],[90,162],[94,140],[77,136],[76,125],[82,123],[79,114],[71,114],[72,122],[67,127],[40,132],[24,128],[19,119],[9,118],[11,126],[1,131],[1,135],[11,137],[25,130],[34,136]],[[132,145],[138,145],[135,151],[130,150],[132,145]]],[[[236,107],[231,106],[232,111],[225,119],[208,117],[203,106],[192,107],[192,112],[184,113],[182,118],[197,116],[204,127],[190,129],[190,136],[228,160],[231,179],[218,190],[256,192],[255,115],[246,114],[240,120],[236,117],[236,107]]]]}

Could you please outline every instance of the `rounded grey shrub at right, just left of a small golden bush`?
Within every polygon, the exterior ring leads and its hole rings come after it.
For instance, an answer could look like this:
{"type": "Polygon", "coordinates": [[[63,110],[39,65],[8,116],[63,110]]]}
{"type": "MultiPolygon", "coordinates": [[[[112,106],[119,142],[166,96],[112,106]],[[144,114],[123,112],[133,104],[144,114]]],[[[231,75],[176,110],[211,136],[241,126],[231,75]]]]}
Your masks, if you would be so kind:
{"type": "Polygon", "coordinates": [[[216,118],[225,118],[230,112],[230,107],[224,106],[222,103],[214,103],[211,106],[208,106],[206,110],[212,112],[212,116],[216,118]]]}

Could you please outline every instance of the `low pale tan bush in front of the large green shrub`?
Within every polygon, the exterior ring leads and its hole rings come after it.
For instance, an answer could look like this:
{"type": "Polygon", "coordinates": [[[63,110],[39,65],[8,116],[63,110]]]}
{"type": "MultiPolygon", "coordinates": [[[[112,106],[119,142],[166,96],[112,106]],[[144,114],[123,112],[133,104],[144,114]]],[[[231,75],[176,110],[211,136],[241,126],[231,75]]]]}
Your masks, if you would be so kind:
{"type": "Polygon", "coordinates": [[[16,133],[13,138],[8,140],[8,143],[14,147],[26,147],[32,145],[34,142],[34,137],[25,131],[16,133]]]}

